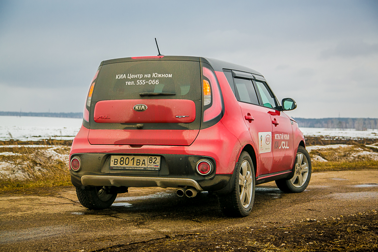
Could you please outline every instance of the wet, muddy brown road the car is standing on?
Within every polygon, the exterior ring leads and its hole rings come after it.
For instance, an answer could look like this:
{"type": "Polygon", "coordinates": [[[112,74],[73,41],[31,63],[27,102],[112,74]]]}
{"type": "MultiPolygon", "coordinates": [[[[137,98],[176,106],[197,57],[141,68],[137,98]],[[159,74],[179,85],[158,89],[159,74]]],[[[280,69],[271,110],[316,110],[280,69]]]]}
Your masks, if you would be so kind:
{"type": "Polygon", "coordinates": [[[226,218],[206,192],[179,198],[173,189],[130,188],[110,209],[87,210],[73,187],[44,195],[0,195],[0,251],[90,251],[227,227],[282,226],[378,209],[378,170],[313,173],[307,190],[256,188],[253,212],[226,218]]]}

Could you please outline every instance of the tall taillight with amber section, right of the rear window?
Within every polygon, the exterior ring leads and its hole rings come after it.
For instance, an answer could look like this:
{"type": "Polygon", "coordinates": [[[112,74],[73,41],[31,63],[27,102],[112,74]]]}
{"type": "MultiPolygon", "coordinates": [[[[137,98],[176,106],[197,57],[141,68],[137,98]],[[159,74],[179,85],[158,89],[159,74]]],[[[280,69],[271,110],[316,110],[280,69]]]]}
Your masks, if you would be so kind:
{"type": "MultiPolygon", "coordinates": [[[[217,80],[215,79],[214,73],[206,67],[202,68],[203,76],[210,80],[210,86],[212,91],[212,105],[210,108],[204,111],[203,113],[203,121],[207,122],[211,119],[214,119],[222,112],[222,99],[220,97],[220,91],[217,84],[217,80]]],[[[206,80],[206,84],[208,81],[206,80]]],[[[203,80],[203,105],[208,105],[211,103],[211,92],[208,90],[209,88],[206,87],[205,89],[205,80],[203,80]],[[205,96],[206,91],[206,96],[205,96]]]]}

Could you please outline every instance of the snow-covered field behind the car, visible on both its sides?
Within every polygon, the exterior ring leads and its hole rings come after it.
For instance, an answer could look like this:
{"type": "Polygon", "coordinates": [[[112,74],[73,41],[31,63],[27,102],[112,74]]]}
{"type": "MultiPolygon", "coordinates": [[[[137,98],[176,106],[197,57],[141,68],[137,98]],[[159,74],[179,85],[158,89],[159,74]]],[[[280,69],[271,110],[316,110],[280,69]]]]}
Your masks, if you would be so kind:
{"type": "MultiPolygon", "coordinates": [[[[73,139],[82,124],[79,118],[0,116],[0,141],[13,139],[38,141],[40,139],[73,139]]],[[[378,138],[378,130],[334,130],[327,128],[301,128],[305,136],[339,136],[349,138],[378,138]]]]}

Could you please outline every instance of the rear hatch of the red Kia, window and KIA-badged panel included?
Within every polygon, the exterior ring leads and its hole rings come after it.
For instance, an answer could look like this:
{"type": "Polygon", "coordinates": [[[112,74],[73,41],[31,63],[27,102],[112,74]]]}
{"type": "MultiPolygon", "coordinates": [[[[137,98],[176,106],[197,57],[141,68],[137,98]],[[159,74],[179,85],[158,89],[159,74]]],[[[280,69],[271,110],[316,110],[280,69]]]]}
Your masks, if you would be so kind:
{"type": "Polygon", "coordinates": [[[201,126],[198,57],[105,61],[90,105],[91,144],[190,145],[201,126]]]}

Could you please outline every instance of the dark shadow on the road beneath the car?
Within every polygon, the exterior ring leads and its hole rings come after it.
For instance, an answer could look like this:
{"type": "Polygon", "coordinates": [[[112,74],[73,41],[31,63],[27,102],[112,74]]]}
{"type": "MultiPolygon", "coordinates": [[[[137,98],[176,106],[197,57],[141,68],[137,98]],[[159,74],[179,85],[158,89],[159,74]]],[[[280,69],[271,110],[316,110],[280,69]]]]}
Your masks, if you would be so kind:
{"type": "MultiPolygon", "coordinates": [[[[268,203],[281,198],[284,193],[277,188],[256,187],[254,209],[260,209],[268,203]]],[[[178,197],[174,190],[158,192],[144,196],[119,195],[112,206],[104,210],[84,210],[79,214],[85,215],[112,215],[122,218],[169,218],[170,220],[193,220],[198,222],[218,218],[227,218],[223,215],[218,204],[218,198],[208,192],[200,192],[194,198],[178,197]]]]}

